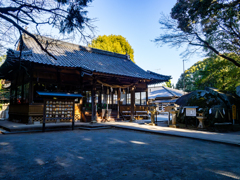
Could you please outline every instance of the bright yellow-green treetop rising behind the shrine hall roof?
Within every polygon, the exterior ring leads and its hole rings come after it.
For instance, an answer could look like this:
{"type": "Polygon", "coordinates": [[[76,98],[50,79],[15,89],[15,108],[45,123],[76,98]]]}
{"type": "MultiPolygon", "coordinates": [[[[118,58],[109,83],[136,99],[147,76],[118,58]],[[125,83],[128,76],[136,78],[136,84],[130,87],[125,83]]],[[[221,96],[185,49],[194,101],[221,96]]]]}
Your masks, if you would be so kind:
{"type": "Polygon", "coordinates": [[[120,54],[128,54],[132,62],[134,61],[134,51],[126,38],[121,35],[103,35],[93,39],[89,47],[111,51],[120,54]]]}

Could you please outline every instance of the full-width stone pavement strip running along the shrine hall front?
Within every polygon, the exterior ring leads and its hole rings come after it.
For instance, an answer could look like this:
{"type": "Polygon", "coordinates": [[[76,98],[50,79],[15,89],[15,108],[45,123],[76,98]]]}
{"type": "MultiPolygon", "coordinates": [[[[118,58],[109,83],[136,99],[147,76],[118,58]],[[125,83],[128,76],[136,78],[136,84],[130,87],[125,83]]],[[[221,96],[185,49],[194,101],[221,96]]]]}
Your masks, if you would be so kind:
{"type": "MultiPolygon", "coordinates": [[[[141,121],[136,122],[107,122],[107,123],[75,123],[75,129],[94,129],[94,128],[107,128],[107,127],[116,127],[128,130],[142,131],[155,134],[163,134],[170,136],[178,136],[184,138],[199,139],[205,141],[219,142],[231,145],[240,146],[240,132],[229,132],[229,133],[216,133],[216,132],[207,132],[199,130],[189,130],[189,129],[180,129],[180,128],[169,128],[167,127],[166,122],[160,123],[160,126],[149,126],[141,121]]],[[[71,123],[47,123],[46,130],[71,130],[71,123]]],[[[0,121],[0,128],[5,129],[10,132],[41,132],[42,124],[26,125],[21,123],[14,123],[10,121],[0,121]]],[[[1,131],[1,130],[0,130],[1,131]]],[[[4,133],[4,132],[3,132],[4,133]]],[[[7,132],[5,132],[7,133],[7,132]]]]}

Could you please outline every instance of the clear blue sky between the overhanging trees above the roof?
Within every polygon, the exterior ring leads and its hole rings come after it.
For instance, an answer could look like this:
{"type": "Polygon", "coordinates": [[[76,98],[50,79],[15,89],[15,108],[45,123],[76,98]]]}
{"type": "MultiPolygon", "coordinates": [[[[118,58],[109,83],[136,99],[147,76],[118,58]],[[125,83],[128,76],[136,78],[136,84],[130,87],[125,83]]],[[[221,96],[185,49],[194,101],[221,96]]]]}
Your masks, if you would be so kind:
{"type": "MultiPolygon", "coordinates": [[[[157,46],[152,42],[160,33],[160,13],[169,14],[176,0],[94,0],[88,16],[97,18],[96,35],[122,35],[134,49],[134,59],[144,70],[171,75],[176,84],[183,72],[180,53],[184,49],[157,46]]],[[[203,57],[185,62],[185,69],[203,57]]],[[[116,67],[117,68],[117,67],[116,67]]]]}

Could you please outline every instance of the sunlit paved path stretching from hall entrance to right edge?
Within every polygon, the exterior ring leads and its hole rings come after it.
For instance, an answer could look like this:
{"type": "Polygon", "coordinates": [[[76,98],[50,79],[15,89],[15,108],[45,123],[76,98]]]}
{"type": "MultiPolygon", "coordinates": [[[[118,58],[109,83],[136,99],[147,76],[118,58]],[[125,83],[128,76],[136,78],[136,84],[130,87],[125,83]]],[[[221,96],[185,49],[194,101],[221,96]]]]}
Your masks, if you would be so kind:
{"type": "Polygon", "coordinates": [[[180,128],[169,128],[169,127],[162,127],[162,126],[141,125],[138,123],[130,123],[130,122],[113,122],[113,123],[108,122],[105,124],[108,124],[114,127],[130,129],[130,130],[221,142],[221,143],[240,146],[240,132],[215,133],[215,132],[196,131],[196,130],[188,130],[188,129],[180,129],[180,128]]]}

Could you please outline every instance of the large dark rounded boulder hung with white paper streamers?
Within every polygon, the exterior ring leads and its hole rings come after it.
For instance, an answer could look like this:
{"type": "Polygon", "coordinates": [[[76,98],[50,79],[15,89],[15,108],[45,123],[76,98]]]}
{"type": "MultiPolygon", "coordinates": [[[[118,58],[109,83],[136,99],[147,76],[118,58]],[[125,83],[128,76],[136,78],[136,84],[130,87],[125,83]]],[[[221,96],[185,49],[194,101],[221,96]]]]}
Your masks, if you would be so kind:
{"type": "Polygon", "coordinates": [[[186,118],[185,114],[181,111],[178,116],[179,122],[186,122],[186,119],[191,120],[194,125],[195,117],[196,127],[204,128],[215,127],[220,124],[231,123],[234,124],[236,119],[239,123],[239,104],[240,100],[234,94],[228,94],[220,92],[215,88],[205,88],[205,90],[196,90],[189,94],[186,94],[176,101],[176,104],[183,107],[198,106],[197,114],[196,111],[189,111],[188,115],[194,118],[186,118]],[[232,105],[236,105],[236,117],[232,115],[232,105]],[[234,120],[233,120],[234,119],[234,120]],[[199,124],[198,124],[199,121],[199,124]]]}

